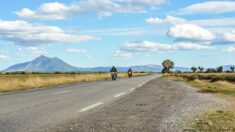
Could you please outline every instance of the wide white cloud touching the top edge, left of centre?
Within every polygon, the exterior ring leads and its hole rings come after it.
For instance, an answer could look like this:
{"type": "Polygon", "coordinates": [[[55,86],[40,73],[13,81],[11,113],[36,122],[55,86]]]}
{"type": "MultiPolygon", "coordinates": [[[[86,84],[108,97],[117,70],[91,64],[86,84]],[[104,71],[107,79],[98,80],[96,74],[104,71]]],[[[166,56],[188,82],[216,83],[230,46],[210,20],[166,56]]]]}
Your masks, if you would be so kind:
{"type": "Polygon", "coordinates": [[[98,18],[113,13],[144,13],[149,8],[158,7],[167,0],[81,0],[78,3],[44,3],[35,10],[23,8],[15,14],[21,18],[39,20],[63,20],[79,13],[96,14],[98,18]]]}

